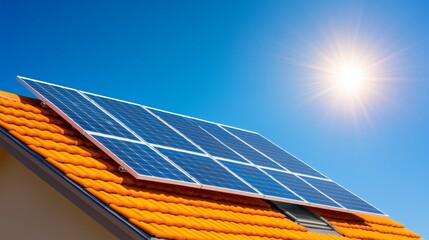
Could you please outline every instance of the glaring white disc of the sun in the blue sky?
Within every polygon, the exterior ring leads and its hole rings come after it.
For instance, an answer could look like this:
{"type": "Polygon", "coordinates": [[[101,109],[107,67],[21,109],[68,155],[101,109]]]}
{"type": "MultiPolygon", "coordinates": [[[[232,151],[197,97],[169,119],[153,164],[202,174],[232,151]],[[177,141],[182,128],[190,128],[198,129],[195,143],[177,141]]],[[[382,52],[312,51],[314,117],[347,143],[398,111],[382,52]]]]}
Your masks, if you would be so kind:
{"type": "Polygon", "coordinates": [[[363,93],[368,77],[361,64],[342,63],[333,70],[332,81],[339,94],[351,97],[363,93]]]}

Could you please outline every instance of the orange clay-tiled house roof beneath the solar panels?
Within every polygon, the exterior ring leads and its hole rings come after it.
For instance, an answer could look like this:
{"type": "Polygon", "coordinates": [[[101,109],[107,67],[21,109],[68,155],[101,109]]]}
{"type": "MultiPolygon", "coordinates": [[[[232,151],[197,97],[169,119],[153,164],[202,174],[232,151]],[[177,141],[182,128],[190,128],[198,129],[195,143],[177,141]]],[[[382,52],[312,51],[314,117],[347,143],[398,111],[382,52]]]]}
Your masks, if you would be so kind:
{"type": "MultiPolygon", "coordinates": [[[[309,232],[261,199],[137,180],[40,101],[0,91],[0,126],[117,224],[166,239],[422,239],[388,217],[310,208],[343,236],[309,232]]],[[[8,137],[2,134],[2,138],[8,137]]],[[[17,173],[18,174],[18,173],[17,173]]],[[[148,235],[139,234],[142,238],[148,235]]]]}

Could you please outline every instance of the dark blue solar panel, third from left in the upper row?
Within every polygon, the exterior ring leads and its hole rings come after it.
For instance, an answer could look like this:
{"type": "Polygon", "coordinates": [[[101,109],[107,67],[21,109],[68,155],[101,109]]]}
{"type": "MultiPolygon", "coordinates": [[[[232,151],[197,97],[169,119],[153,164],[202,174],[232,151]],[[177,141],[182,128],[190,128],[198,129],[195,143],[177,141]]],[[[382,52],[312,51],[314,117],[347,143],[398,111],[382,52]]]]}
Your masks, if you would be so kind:
{"type": "Polygon", "coordinates": [[[198,144],[202,149],[207,151],[212,156],[246,162],[246,160],[235,154],[221,142],[192,123],[188,118],[155,109],[149,110],[161,117],[175,129],[179,130],[179,132],[191,139],[194,143],[198,144]]]}

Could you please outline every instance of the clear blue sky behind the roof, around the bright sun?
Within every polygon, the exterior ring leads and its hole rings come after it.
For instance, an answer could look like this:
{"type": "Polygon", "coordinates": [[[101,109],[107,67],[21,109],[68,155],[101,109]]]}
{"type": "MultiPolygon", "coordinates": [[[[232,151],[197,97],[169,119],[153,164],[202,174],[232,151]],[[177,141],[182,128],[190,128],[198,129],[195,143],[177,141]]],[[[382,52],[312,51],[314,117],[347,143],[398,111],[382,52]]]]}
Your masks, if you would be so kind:
{"type": "Polygon", "coordinates": [[[258,131],[429,238],[428,1],[8,2],[0,89],[29,95],[22,75],[258,131]],[[350,48],[385,80],[354,114],[314,97],[314,66],[350,48]]]}

